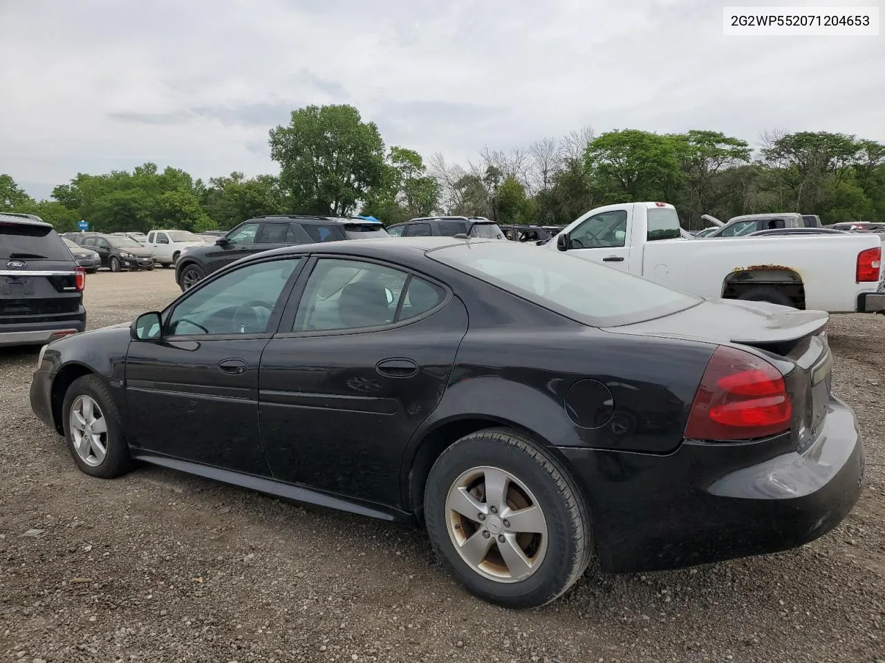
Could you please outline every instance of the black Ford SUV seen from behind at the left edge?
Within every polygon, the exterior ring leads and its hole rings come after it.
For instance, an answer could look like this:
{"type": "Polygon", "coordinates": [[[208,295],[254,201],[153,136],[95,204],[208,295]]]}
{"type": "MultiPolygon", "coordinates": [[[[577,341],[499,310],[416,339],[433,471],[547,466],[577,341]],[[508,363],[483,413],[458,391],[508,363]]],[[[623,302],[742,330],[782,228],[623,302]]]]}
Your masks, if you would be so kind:
{"type": "Polygon", "coordinates": [[[85,331],[85,286],[86,271],[50,224],[0,212],[0,346],[85,331]]]}

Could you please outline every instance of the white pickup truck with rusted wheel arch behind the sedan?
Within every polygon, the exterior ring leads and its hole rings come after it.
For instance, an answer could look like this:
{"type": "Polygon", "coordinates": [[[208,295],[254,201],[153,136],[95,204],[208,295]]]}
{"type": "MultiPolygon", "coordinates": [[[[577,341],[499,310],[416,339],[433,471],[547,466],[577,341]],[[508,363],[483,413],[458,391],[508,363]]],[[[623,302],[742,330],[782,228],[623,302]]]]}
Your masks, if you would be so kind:
{"type": "Polygon", "coordinates": [[[590,210],[539,250],[568,251],[707,299],[885,312],[876,234],[687,240],[673,205],[629,202],[590,210]]]}

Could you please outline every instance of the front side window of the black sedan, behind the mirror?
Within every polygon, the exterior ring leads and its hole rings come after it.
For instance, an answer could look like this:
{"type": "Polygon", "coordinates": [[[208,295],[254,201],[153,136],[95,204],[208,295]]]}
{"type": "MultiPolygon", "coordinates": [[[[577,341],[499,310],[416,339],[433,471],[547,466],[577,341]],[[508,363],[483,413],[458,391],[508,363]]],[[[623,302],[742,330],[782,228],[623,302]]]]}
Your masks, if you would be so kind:
{"type": "Polygon", "coordinates": [[[265,333],[273,308],[299,260],[252,263],[197,288],[173,309],[166,333],[265,333]]]}

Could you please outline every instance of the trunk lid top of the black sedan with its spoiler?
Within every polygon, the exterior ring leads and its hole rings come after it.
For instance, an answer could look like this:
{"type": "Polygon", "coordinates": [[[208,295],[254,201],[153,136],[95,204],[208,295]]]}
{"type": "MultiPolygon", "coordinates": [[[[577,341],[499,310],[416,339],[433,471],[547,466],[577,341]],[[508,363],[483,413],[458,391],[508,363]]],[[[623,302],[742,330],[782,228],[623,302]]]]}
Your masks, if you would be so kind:
{"type": "Polygon", "coordinates": [[[767,301],[704,300],[670,316],[605,331],[754,346],[803,339],[828,320],[824,311],[791,309],[767,301]]]}

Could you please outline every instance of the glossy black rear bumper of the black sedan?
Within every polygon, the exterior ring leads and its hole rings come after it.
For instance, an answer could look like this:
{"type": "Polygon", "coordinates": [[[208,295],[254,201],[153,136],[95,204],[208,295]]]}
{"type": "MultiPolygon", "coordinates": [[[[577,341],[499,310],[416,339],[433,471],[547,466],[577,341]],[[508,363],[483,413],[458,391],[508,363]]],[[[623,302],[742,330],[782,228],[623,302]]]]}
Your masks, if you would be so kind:
{"type": "Polygon", "coordinates": [[[832,400],[812,446],[785,450],[786,438],[657,457],[560,451],[589,494],[601,567],[634,572],[789,550],[842,522],[864,472],[854,414],[832,400]]]}

